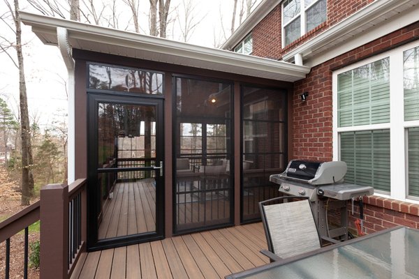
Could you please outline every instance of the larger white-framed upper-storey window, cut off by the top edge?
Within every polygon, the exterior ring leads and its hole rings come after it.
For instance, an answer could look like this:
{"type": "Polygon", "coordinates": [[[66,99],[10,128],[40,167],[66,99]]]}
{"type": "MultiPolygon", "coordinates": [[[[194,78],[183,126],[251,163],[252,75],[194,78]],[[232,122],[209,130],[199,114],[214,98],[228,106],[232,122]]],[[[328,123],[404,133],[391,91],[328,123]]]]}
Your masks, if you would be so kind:
{"type": "Polygon", "coordinates": [[[293,43],[327,18],[326,0],[286,0],[282,3],[283,46],[293,43]]]}

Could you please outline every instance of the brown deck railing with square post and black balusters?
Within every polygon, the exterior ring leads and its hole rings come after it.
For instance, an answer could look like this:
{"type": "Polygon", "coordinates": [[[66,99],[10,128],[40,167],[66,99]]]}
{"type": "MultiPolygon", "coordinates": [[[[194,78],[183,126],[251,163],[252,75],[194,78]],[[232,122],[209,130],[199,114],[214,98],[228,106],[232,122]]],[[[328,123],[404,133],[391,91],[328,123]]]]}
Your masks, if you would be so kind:
{"type": "Polygon", "coordinates": [[[0,243],[6,241],[4,278],[10,277],[10,237],[24,230],[24,278],[27,278],[29,225],[41,220],[41,278],[70,278],[86,239],[86,179],[70,186],[49,184],[41,199],[0,223],[0,243]]]}

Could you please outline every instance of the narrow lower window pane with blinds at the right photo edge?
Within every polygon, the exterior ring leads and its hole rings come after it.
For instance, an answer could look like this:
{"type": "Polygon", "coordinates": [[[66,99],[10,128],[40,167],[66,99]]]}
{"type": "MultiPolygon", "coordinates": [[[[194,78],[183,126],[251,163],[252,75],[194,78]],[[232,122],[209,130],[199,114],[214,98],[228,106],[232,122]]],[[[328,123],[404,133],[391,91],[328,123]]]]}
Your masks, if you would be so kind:
{"type": "Polygon", "coordinates": [[[408,128],[409,195],[419,197],[419,127],[408,128]]]}

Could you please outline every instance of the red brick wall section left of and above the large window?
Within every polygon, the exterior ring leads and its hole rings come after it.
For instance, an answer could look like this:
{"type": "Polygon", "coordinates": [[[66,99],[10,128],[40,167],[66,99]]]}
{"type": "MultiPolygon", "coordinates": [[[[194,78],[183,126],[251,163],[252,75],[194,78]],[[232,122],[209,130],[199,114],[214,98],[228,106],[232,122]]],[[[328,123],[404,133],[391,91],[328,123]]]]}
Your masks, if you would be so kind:
{"type": "Polygon", "coordinates": [[[385,52],[419,38],[419,22],[378,38],[311,68],[295,82],[293,93],[293,158],[332,160],[332,70],[385,52]],[[309,92],[305,102],[300,95],[309,92]]]}

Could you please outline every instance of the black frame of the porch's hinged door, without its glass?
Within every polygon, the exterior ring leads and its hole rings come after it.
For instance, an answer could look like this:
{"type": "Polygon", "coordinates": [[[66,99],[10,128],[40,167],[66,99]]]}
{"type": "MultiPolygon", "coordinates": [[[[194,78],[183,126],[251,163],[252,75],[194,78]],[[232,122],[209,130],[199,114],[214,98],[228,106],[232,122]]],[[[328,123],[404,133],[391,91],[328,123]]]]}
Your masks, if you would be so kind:
{"type": "Polygon", "coordinates": [[[88,92],[88,123],[87,123],[87,250],[89,252],[128,246],[135,243],[154,241],[164,238],[164,175],[160,169],[138,167],[131,170],[147,170],[156,173],[156,232],[118,236],[110,239],[98,239],[98,103],[119,103],[126,105],[151,105],[156,107],[156,162],[162,162],[164,167],[164,103],[163,98],[153,96],[121,96],[109,93],[88,92]],[[148,98],[147,98],[148,97],[148,98]]]}

